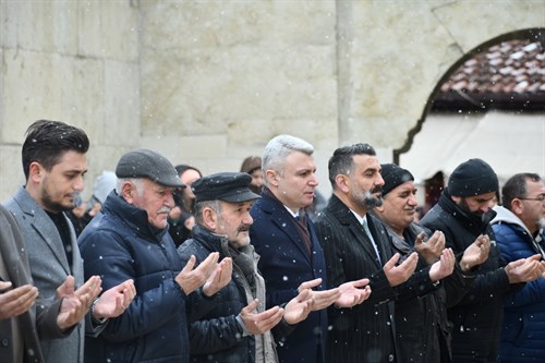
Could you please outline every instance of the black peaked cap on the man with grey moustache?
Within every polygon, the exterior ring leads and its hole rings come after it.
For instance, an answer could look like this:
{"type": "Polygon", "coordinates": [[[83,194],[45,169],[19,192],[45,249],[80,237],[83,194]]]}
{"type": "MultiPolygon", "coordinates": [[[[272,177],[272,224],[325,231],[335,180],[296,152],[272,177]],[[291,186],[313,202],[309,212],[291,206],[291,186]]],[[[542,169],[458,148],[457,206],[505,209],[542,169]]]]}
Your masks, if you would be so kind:
{"type": "Polygon", "coordinates": [[[245,172],[219,172],[194,181],[191,190],[195,202],[219,199],[241,203],[261,197],[250,190],[251,182],[252,177],[245,172]]]}

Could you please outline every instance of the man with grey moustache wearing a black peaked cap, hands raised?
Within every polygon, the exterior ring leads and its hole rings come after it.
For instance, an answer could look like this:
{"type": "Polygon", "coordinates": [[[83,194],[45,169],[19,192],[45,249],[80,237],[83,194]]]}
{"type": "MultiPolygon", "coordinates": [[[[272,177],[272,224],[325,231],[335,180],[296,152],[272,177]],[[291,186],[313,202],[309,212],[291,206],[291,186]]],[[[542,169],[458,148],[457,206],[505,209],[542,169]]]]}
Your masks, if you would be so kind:
{"type": "MultiPolygon", "coordinates": [[[[265,281],[257,270],[258,255],[250,244],[250,208],[259,198],[251,191],[251,182],[245,172],[221,172],[192,185],[196,226],[193,238],[179,246],[178,253],[182,261],[194,255],[197,263],[219,253],[233,264],[231,281],[218,293],[216,306],[191,324],[192,362],[277,362],[275,337],[291,332],[312,310],[307,289],[319,280],[304,283],[284,306],[265,310],[265,281]]],[[[190,297],[191,305],[198,310],[203,299],[190,297]]]]}

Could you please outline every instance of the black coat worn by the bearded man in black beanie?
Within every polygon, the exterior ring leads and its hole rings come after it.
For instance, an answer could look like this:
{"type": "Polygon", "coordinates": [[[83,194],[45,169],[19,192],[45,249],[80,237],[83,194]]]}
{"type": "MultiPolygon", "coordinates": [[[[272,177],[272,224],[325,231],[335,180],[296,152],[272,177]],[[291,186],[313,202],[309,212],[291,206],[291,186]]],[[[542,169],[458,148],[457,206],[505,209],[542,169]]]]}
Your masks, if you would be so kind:
{"type": "Polygon", "coordinates": [[[481,233],[491,238],[488,258],[477,267],[475,281],[470,291],[448,310],[453,324],[452,356],[455,362],[496,362],[504,315],[502,299],[522,288],[511,286],[504,269],[505,261],[494,241],[489,220],[467,214],[445,190],[435,205],[422,219],[421,225],[445,233],[446,246],[455,254],[463,252],[481,233]]]}

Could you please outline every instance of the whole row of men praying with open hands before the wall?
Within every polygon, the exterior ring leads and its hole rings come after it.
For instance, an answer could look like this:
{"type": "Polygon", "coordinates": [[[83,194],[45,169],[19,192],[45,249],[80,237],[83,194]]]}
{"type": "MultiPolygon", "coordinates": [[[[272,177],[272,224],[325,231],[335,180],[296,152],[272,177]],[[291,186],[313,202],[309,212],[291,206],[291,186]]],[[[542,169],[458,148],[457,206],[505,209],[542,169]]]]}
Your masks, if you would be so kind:
{"type": "Polygon", "coordinates": [[[368,144],[334,152],[317,214],[299,137],[210,176],[138,148],[76,233],[88,147],[58,121],[26,132],[0,205],[1,362],[545,361],[538,174],[494,206],[470,159],[417,222],[413,176],[368,144]]]}

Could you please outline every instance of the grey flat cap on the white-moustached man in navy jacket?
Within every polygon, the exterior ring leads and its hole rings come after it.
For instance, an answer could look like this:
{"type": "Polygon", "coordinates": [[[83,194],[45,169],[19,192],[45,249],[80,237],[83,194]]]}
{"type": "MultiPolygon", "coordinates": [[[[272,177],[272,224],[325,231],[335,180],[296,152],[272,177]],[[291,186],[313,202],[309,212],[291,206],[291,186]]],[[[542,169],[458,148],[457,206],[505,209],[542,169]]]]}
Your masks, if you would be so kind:
{"type": "Polygon", "coordinates": [[[185,187],[170,161],[147,148],[124,154],[116,167],[118,178],[146,178],[165,186],[185,187]]]}

